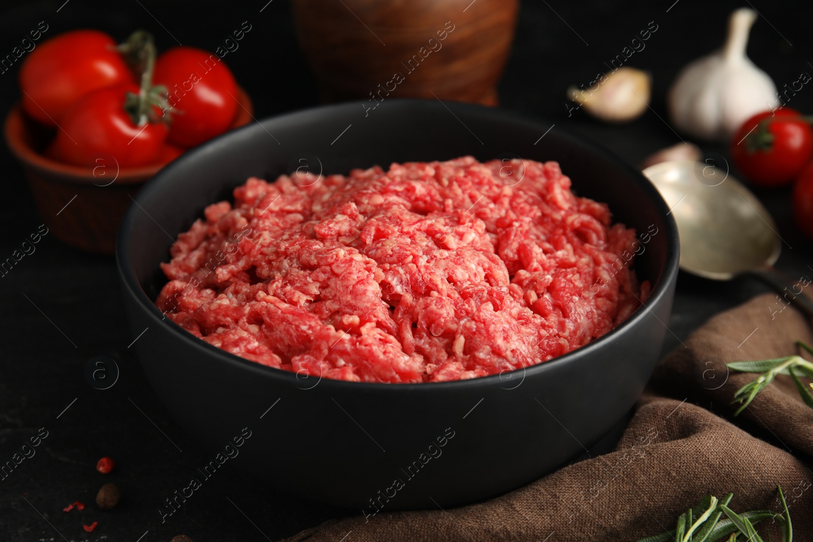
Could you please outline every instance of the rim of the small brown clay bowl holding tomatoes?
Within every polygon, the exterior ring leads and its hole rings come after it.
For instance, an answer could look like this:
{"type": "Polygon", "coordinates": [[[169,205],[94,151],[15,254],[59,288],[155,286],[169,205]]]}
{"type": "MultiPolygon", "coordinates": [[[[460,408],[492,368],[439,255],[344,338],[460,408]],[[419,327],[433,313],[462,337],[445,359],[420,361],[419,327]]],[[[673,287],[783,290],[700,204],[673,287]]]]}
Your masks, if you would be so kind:
{"type": "MultiPolygon", "coordinates": [[[[236,99],[238,107],[234,113],[232,124],[225,133],[250,124],[250,121],[245,119],[244,110],[245,112],[248,112],[248,115],[250,115],[252,119],[254,118],[254,114],[252,112],[254,106],[251,103],[251,98],[249,97],[248,93],[246,93],[246,90],[240,85],[237,85],[236,99]],[[246,120],[246,122],[243,124],[237,124],[243,120],[246,120]]],[[[3,122],[3,135],[6,138],[6,145],[9,150],[11,150],[11,154],[14,154],[17,160],[24,163],[28,167],[34,167],[41,171],[47,171],[50,175],[60,176],[64,181],[69,183],[95,184],[93,181],[98,179],[94,177],[93,174],[88,173],[89,167],[76,166],[75,164],[59,162],[59,160],[49,158],[45,154],[38,153],[32,148],[31,145],[28,145],[28,143],[26,143],[22,137],[19,137],[19,132],[17,130],[13,130],[12,128],[14,128],[15,123],[18,123],[23,126],[22,130],[25,130],[24,125],[27,120],[29,120],[29,122],[36,122],[26,117],[25,112],[23,111],[22,102],[18,100],[14,103],[14,105],[11,106],[11,109],[6,115],[6,119],[3,122]]],[[[61,128],[57,127],[57,129],[59,130],[61,128]]],[[[216,139],[216,137],[212,139],[216,139]]],[[[206,145],[207,143],[208,141],[204,141],[201,145],[206,145]]],[[[192,149],[195,148],[196,147],[193,147],[192,149]]],[[[182,151],[185,153],[192,149],[182,149],[182,151]]],[[[146,166],[138,167],[120,167],[119,175],[116,176],[116,180],[120,181],[119,184],[139,184],[154,176],[165,166],[167,166],[167,163],[148,164],[146,166]]]]}

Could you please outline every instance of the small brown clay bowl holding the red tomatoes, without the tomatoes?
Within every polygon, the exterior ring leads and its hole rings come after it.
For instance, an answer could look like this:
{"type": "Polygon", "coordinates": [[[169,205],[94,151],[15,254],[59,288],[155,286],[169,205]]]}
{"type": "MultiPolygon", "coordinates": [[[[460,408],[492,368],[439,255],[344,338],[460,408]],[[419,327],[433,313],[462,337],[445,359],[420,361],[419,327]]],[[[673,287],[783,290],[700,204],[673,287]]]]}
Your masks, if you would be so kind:
{"type": "MultiPolygon", "coordinates": [[[[237,114],[232,128],[248,124],[253,107],[237,88],[237,114]]],[[[115,233],[124,210],[141,185],[166,164],[120,168],[115,158],[99,158],[87,167],[45,156],[54,132],[26,116],[17,103],[6,117],[6,142],[20,161],[43,222],[67,245],[102,254],[115,251],[115,233]]]]}

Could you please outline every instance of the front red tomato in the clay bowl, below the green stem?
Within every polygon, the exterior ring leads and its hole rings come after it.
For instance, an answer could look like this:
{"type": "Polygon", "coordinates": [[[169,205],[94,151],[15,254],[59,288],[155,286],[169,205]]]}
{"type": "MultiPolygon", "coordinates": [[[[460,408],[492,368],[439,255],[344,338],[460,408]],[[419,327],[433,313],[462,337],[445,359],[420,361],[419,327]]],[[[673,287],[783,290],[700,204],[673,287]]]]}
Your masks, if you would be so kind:
{"type": "Polygon", "coordinates": [[[60,121],[49,155],[77,166],[92,166],[96,158],[110,156],[119,167],[158,162],[167,139],[167,126],[133,123],[124,111],[128,91],[137,93],[138,88],[120,85],[80,98],[60,121]]]}

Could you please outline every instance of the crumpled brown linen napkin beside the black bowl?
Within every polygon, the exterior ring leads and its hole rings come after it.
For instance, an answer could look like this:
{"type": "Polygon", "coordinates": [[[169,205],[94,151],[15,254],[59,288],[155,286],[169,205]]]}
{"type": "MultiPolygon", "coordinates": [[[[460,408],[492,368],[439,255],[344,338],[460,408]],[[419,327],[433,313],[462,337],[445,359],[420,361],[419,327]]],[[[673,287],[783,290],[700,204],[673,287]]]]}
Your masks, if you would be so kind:
{"type": "MultiPolygon", "coordinates": [[[[673,529],[706,493],[733,492],[738,512],[779,511],[776,484],[794,540],[813,540],[813,470],[798,458],[813,455],[813,410],[782,376],[738,418],[729,405],[756,375],[728,375],[725,362],[777,358],[796,353],[796,340],[813,342],[800,314],[778,308],[773,295],[755,297],[693,333],[660,362],[613,453],[476,505],[334,520],[288,540],[627,542],[673,529]]],[[[778,534],[774,528],[774,540],[778,534]]]]}

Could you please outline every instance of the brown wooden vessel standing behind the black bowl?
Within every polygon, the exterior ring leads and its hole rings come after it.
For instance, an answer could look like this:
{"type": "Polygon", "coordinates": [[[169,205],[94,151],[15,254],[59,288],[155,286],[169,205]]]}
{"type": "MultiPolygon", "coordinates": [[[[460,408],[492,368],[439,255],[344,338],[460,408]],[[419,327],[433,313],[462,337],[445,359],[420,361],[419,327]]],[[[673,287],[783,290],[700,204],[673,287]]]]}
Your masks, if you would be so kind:
{"type": "Polygon", "coordinates": [[[293,0],[323,100],[361,98],[368,115],[390,97],[497,105],[518,11],[519,0],[293,0]]]}

